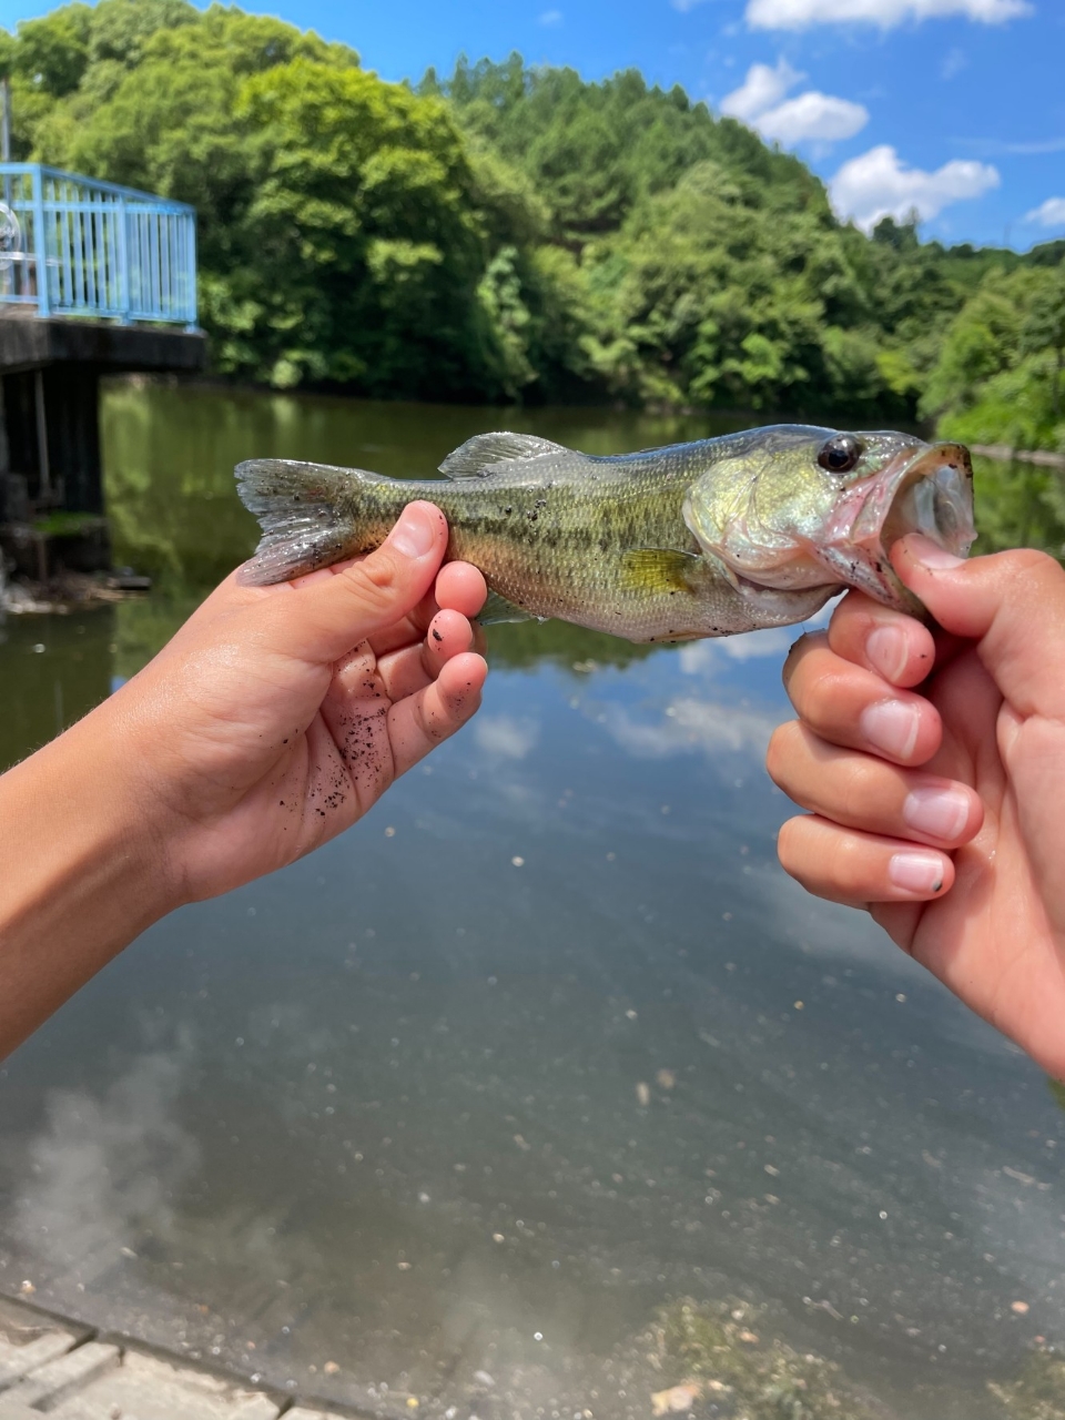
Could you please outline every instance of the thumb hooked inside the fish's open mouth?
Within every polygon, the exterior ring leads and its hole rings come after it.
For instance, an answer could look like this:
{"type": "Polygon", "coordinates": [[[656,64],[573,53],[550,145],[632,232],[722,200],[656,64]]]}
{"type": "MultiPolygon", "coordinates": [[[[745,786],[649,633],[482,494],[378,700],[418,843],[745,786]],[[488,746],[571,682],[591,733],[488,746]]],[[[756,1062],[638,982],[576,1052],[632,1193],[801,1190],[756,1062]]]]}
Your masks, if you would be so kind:
{"type": "Polygon", "coordinates": [[[899,578],[954,636],[978,653],[1022,714],[1065,714],[1065,571],[1047,552],[1017,548],[966,561],[910,534],[890,550],[899,578]]]}

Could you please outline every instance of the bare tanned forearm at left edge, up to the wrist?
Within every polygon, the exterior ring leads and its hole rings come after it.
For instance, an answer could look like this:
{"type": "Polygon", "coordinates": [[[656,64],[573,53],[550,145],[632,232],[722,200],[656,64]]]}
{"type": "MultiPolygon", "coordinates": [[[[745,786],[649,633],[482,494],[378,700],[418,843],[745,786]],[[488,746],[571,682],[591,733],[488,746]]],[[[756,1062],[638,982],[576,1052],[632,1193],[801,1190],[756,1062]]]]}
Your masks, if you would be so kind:
{"type": "Polygon", "coordinates": [[[0,1058],[176,906],[108,706],[0,775],[0,1058]]]}

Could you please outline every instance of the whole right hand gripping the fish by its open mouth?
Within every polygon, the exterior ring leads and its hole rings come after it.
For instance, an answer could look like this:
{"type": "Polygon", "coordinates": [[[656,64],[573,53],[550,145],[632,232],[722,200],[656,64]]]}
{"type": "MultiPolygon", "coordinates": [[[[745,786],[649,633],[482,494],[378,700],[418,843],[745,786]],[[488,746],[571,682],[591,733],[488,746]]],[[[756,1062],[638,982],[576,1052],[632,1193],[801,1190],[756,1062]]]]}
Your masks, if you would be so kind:
{"type": "Polygon", "coordinates": [[[1034,551],[892,548],[943,633],[851,592],[784,680],[787,872],[873,919],[1065,1076],[1065,572],[1034,551]]]}

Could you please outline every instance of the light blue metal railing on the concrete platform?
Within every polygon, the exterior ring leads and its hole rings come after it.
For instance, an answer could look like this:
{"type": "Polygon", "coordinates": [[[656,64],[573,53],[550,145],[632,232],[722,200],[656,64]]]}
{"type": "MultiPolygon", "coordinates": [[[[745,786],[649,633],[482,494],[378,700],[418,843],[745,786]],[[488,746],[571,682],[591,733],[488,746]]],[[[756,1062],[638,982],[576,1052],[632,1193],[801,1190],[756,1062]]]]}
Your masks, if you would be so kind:
{"type": "Polygon", "coordinates": [[[196,327],[196,210],[41,163],[0,163],[0,305],[196,327]]]}

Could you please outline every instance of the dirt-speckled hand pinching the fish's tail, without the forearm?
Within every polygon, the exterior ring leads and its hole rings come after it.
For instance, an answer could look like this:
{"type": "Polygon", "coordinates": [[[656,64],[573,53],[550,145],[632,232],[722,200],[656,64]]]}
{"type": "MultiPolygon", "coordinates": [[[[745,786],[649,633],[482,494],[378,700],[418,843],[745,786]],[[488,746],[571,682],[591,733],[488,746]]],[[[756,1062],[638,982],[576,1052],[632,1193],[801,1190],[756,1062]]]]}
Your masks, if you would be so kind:
{"type": "Polygon", "coordinates": [[[366,558],[277,586],[236,572],[94,711],[175,905],[334,838],[476,711],[486,585],[440,568],[446,545],[439,508],[412,503],[366,558]]]}

